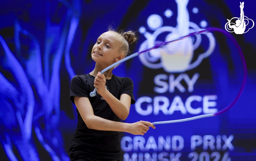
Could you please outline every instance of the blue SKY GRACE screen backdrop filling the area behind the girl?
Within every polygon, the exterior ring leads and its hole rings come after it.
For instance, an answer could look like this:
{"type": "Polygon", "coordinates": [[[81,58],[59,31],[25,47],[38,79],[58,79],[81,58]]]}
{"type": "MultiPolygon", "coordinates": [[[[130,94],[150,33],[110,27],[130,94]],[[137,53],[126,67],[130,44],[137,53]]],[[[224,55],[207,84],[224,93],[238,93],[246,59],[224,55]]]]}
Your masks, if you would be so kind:
{"type": "MultiPolygon", "coordinates": [[[[143,136],[120,133],[124,161],[256,160],[255,4],[244,4],[247,32],[230,33],[248,68],[237,103],[222,115],[156,125],[143,136]]],[[[70,80],[94,69],[91,50],[101,33],[109,26],[138,31],[134,53],[206,27],[225,30],[227,19],[240,17],[240,2],[9,0],[0,2],[0,11],[0,160],[69,161],[77,124],[70,80]]],[[[216,32],[152,50],[113,73],[134,82],[136,103],[127,123],[220,111],[234,100],[244,76],[235,45],[216,32]]]]}

